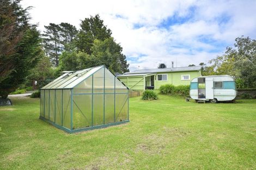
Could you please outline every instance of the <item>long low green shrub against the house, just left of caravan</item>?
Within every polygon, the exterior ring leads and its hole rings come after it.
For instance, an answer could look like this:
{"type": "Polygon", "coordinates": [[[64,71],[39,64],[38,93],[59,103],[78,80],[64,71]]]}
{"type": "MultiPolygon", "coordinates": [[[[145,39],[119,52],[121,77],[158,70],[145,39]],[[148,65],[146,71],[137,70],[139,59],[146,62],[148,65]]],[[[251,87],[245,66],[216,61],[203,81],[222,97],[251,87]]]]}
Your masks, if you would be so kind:
{"type": "Polygon", "coordinates": [[[174,86],[172,84],[164,84],[159,88],[161,94],[188,96],[190,94],[190,85],[174,86]]]}

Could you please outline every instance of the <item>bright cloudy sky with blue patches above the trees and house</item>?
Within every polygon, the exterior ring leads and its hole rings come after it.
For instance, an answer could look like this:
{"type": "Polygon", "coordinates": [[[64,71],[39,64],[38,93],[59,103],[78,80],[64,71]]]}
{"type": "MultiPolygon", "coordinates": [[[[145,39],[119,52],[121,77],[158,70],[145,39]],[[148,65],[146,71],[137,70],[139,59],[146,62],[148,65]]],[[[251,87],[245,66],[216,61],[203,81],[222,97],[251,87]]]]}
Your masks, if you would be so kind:
{"type": "Polygon", "coordinates": [[[23,0],[32,23],[80,22],[99,14],[123,47],[130,70],[198,65],[223,54],[241,35],[256,39],[256,1],[23,0]]]}

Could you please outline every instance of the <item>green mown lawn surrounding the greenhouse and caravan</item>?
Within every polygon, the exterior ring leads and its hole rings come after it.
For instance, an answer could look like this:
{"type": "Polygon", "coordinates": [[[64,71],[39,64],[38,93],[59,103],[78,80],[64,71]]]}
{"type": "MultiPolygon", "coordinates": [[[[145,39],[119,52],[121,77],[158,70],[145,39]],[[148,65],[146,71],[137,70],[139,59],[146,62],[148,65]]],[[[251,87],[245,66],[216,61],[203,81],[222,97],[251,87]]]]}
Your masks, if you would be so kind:
{"type": "Polygon", "coordinates": [[[256,169],[256,100],[130,98],[130,123],[67,134],[39,99],[0,107],[0,169],[256,169]]]}

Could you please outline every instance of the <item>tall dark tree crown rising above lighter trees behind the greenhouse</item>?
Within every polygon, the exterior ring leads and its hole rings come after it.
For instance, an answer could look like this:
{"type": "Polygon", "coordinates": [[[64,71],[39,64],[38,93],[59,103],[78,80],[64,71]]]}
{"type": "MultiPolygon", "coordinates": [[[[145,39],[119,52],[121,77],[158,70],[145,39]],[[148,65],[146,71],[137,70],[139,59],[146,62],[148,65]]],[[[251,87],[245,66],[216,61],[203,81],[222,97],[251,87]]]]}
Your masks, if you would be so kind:
{"type": "Polygon", "coordinates": [[[81,24],[81,29],[77,35],[76,47],[78,51],[92,54],[92,47],[94,40],[104,41],[111,37],[111,30],[108,29],[104,24],[103,20],[100,19],[99,15],[95,17],[85,18],[81,24]]]}

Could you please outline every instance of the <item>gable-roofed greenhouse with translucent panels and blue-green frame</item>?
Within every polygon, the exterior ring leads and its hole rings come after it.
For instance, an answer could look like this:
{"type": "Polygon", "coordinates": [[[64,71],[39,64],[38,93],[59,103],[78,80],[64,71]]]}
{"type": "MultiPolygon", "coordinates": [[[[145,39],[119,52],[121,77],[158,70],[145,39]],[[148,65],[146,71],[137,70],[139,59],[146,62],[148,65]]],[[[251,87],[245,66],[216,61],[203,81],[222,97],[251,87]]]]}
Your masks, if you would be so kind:
{"type": "Polygon", "coordinates": [[[68,133],[129,122],[129,89],[105,66],[63,72],[40,92],[40,119],[68,133]]]}

